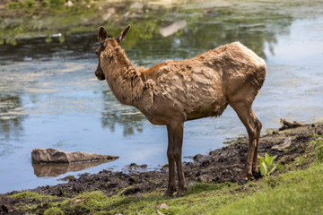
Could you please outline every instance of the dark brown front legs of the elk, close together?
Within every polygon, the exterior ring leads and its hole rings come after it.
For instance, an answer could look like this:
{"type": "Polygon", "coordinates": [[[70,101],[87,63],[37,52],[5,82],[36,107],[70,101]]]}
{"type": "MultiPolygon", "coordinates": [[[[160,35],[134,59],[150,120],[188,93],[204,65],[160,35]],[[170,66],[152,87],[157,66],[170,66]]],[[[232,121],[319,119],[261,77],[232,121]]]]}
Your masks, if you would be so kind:
{"type": "Polygon", "coordinates": [[[167,125],[167,132],[169,137],[167,158],[169,160],[169,187],[166,195],[172,196],[175,192],[175,163],[177,165],[178,176],[179,176],[179,195],[184,195],[186,190],[186,182],[184,172],[181,163],[181,153],[183,144],[183,127],[184,123],[181,121],[171,121],[167,125]]]}

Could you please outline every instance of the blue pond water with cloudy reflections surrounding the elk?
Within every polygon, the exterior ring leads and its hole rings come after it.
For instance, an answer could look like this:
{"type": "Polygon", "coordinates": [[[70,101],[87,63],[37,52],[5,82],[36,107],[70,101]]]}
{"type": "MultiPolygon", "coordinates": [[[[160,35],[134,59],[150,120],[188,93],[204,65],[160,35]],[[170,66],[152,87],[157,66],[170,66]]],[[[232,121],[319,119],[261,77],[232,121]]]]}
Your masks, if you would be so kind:
{"type": "MultiPolygon", "coordinates": [[[[188,8],[188,10],[193,10],[188,8]]],[[[187,26],[162,38],[129,33],[127,56],[144,66],[196,56],[240,40],[266,59],[266,82],[254,110],[267,128],[280,118],[310,123],[323,120],[323,16],[295,18],[287,13],[170,13],[162,22],[187,20],[187,26]],[[144,38],[144,36],[143,36],[144,38]]],[[[116,35],[117,36],[117,35],[116,35]]],[[[122,106],[107,82],[94,76],[95,32],[53,39],[22,39],[0,49],[0,193],[56,185],[57,178],[102,169],[122,170],[130,163],[149,169],[167,163],[167,133],[151,125],[134,107],[122,106]],[[31,150],[56,148],[118,155],[120,159],[57,177],[38,177],[31,150]]],[[[245,128],[231,107],[223,116],[185,124],[183,156],[221,148],[245,128]]],[[[188,160],[188,159],[186,159],[188,160]]]]}

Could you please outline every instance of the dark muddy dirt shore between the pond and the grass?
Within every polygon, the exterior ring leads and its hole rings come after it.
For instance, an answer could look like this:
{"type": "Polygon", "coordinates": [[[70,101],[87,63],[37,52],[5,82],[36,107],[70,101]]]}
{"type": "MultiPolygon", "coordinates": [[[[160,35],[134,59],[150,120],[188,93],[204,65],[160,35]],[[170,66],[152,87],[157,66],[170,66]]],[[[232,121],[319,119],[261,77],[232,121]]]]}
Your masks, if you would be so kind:
{"type": "MultiPolygon", "coordinates": [[[[262,157],[265,153],[268,153],[270,156],[277,155],[275,162],[287,167],[286,165],[292,163],[297,158],[306,157],[306,153],[311,150],[309,142],[314,133],[322,135],[323,122],[310,125],[300,125],[296,122],[284,124],[282,128],[261,136],[259,155],[262,157]],[[287,139],[290,139],[292,142],[288,148],[279,148],[277,150],[274,147],[272,149],[275,145],[283,145],[287,139]]],[[[240,137],[237,140],[227,142],[227,146],[222,149],[213,150],[206,155],[197,154],[192,158],[192,162],[184,162],[184,172],[188,185],[196,182],[213,184],[237,182],[246,159],[246,142],[246,137],[240,137]]],[[[314,157],[309,156],[306,160],[306,162],[300,163],[297,168],[308,167],[313,162],[314,157]]],[[[65,178],[65,180],[68,180],[67,183],[39,186],[29,191],[55,195],[62,197],[61,200],[65,199],[65,197],[74,197],[83,192],[98,190],[109,196],[122,193],[138,197],[142,193],[165,191],[168,184],[167,165],[159,171],[145,171],[146,167],[146,165],[138,166],[131,164],[129,165],[128,173],[102,170],[98,174],[80,175],[79,178],[70,176],[65,178]]],[[[288,168],[283,169],[285,170],[276,171],[275,174],[288,170],[288,168]]],[[[25,213],[25,211],[16,211],[15,207],[29,203],[30,200],[9,197],[14,193],[19,192],[0,194],[0,214],[5,214],[7,211],[10,211],[10,214],[25,213]]],[[[60,198],[57,201],[60,201],[60,198]]],[[[42,210],[45,211],[47,207],[48,204],[42,204],[42,210]]]]}

